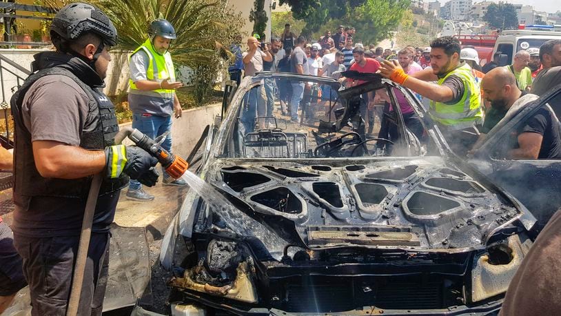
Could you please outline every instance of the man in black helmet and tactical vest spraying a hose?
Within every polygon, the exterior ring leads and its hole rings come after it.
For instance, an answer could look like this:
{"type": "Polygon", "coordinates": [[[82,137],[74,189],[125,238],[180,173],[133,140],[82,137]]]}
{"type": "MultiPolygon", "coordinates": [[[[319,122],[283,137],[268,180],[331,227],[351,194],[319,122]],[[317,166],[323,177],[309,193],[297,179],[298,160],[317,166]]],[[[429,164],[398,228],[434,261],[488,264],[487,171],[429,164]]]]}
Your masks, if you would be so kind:
{"type": "Polygon", "coordinates": [[[114,144],[114,106],[101,88],[116,29],[101,10],[72,3],[50,28],[56,52],[35,55],[34,73],[12,97],[15,121],[14,246],[23,258],[32,315],[65,315],[92,175],[97,199],[78,315],[101,315],[109,226],[129,176],[152,186],[157,161],[114,144]]]}

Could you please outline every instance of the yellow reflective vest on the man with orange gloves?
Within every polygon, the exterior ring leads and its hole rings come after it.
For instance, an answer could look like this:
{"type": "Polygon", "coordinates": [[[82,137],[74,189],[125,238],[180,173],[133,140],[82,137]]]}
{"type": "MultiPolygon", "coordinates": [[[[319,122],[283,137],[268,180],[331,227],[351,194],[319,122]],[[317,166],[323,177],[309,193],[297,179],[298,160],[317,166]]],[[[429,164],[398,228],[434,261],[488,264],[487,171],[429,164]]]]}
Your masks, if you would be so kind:
{"type": "Polygon", "coordinates": [[[458,76],[465,86],[462,99],[455,104],[431,101],[429,115],[450,130],[462,130],[480,124],[483,117],[481,92],[476,79],[471,74],[471,68],[465,63],[440,78],[438,84],[441,85],[451,75],[458,76]]]}

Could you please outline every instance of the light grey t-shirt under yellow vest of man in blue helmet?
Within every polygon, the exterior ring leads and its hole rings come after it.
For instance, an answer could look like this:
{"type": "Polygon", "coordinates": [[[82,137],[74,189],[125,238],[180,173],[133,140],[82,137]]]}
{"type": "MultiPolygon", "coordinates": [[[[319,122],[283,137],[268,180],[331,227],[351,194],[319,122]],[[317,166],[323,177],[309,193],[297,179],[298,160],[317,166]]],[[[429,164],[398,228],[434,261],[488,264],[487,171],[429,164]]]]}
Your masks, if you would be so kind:
{"type": "MultiPolygon", "coordinates": [[[[146,72],[150,59],[144,50],[130,57],[130,79],[132,82],[147,80],[146,72]]],[[[149,113],[169,117],[174,110],[174,98],[163,98],[158,92],[142,91],[141,94],[129,93],[129,108],[134,114],[149,113]]]]}

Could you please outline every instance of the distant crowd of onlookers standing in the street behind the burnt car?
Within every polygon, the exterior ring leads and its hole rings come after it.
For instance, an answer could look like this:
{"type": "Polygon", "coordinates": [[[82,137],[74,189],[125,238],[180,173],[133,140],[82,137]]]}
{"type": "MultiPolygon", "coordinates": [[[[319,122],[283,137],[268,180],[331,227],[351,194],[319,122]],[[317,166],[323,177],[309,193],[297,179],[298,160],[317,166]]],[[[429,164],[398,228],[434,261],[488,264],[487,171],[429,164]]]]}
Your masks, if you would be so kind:
{"type": "MultiPolygon", "coordinates": [[[[291,31],[290,25],[286,24],[281,37],[272,39],[270,43],[265,42],[263,37],[257,34],[249,37],[248,50],[245,53],[242,53],[241,37],[238,37],[232,46],[236,61],[229,68],[230,77],[239,84],[244,69],[246,76],[252,76],[260,71],[292,72],[298,75],[332,77],[338,79],[344,86],[351,87],[360,81],[341,78],[341,72],[345,70],[376,72],[380,62],[386,59],[400,59],[402,66],[410,74],[422,70],[420,63],[425,67],[429,64],[430,55],[427,49],[411,46],[404,50],[384,50],[373,45],[365,47],[360,41],[355,43],[355,35],[355,28],[339,26],[334,34],[326,30],[318,41],[312,43],[303,36],[296,36],[291,31]],[[261,53],[256,53],[257,51],[261,53]]],[[[329,96],[331,92],[331,88],[326,85],[317,87],[304,82],[267,81],[263,85],[265,93],[251,92],[254,95],[248,97],[249,110],[242,117],[246,130],[252,129],[256,116],[272,115],[275,85],[278,89],[282,115],[289,116],[295,122],[299,121],[298,108],[302,107],[302,103],[309,104],[309,99],[315,100],[318,96],[324,96],[321,99],[325,99],[325,96],[329,96]],[[256,98],[256,95],[266,95],[266,99],[256,98]]],[[[376,117],[379,119],[383,114],[380,106],[374,106],[373,96],[373,93],[365,95],[361,100],[363,102],[361,112],[368,117],[369,133],[373,130],[376,117]]],[[[303,119],[307,120],[310,117],[306,115],[303,119]]],[[[263,126],[264,123],[261,121],[260,125],[263,126]]]]}

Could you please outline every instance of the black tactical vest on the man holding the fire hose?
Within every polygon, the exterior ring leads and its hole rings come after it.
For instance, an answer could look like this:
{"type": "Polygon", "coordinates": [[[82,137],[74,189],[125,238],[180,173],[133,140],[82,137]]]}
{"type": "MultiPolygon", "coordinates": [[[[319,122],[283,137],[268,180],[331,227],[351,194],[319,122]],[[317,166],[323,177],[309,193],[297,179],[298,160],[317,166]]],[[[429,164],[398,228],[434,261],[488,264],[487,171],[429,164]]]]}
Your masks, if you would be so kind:
{"type": "MultiPolygon", "coordinates": [[[[32,197],[61,197],[80,198],[88,197],[92,176],[80,179],[55,179],[41,177],[33,157],[31,133],[23,124],[21,106],[23,97],[32,84],[38,79],[48,75],[63,75],[70,77],[88,95],[88,117],[83,117],[84,131],[80,136],[80,147],[88,150],[103,150],[106,146],[114,145],[114,137],[119,132],[115,108],[113,103],[103,92],[91,88],[76,77],[70,70],[54,67],[40,70],[30,75],[23,86],[15,92],[11,99],[12,115],[15,121],[14,149],[14,203],[27,210],[32,197]],[[88,130],[88,131],[86,131],[88,130]]],[[[53,110],[56,105],[53,105],[53,110]]],[[[77,109],[76,109],[77,110],[77,109]]],[[[105,195],[127,186],[129,177],[121,175],[117,179],[103,179],[99,195],[105,195]]],[[[61,200],[63,203],[63,200],[61,200]]]]}

